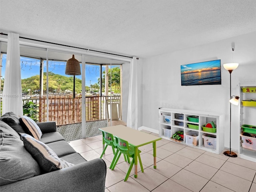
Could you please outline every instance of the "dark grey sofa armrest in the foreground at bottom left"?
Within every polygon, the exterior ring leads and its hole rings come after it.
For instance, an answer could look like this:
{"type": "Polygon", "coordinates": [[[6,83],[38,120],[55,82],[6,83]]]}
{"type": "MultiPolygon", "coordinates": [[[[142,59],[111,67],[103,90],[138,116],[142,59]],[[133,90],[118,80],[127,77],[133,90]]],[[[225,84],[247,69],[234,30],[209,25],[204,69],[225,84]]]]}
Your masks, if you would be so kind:
{"type": "Polygon", "coordinates": [[[68,168],[0,186],[0,191],[104,192],[106,163],[94,159],[68,168]]]}

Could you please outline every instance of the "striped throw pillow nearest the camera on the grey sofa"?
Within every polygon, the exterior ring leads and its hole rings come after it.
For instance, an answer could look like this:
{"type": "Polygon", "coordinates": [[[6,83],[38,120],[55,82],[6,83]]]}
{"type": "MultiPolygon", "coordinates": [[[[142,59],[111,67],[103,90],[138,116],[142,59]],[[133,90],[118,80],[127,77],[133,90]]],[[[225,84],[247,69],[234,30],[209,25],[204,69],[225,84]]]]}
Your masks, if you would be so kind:
{"type": "Polygon", "coordinates": [[[24,147],[36,160],[43,172],[52,172],[62,168],[73,166],[59,158],[56,153],[43,142],[40,142],[28,134],[21,134],[24,147]]]}

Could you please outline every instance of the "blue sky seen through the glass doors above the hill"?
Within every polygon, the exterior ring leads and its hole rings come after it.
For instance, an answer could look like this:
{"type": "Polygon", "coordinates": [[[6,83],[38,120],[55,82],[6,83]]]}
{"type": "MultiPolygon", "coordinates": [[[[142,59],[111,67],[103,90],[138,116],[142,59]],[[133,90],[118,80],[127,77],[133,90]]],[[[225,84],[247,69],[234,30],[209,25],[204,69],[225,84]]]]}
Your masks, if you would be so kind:
{"type": "MultiPolygon", "coordinates": [[[[6,54],[3,54],[2,58],[2,78],[4,78],[5,73],[5,64],[6,64],[6,54]]],[[[63,76],[68,76],[65,74],[66,62],[59,61],[49,61],[48,62],[48,71],[55,74],[60,74],[63,76]]],[[[40,60],[34,58],[20,57],[20,66],[21,66],[21,78],[26,79],[28,77],[39,75],[40,71],[40,60]]],[[[112,68],[115,66],[112,66],[112,68]]],[[[104,66],[102,67],[104,68],[104,66]]],[[[81,67],[82,70],[82,67],[81,67]]],[[[46,60],[44,61],[44,72],[46,72],[46,60]]],[[[98,83],[98,78],[100,77],[100,66],[95,65],[86,65],[86,86],[91,84],[98,83]]],[[[82,75],[76,76],[76,78],[82,79],[82,75]]]]}

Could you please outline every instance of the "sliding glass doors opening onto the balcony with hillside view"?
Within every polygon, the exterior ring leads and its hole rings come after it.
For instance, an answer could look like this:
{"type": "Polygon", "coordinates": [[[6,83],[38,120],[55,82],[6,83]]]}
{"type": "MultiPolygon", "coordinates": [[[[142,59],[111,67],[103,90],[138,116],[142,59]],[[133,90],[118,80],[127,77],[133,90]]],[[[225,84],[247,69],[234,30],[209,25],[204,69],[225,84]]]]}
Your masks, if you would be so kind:
{"type": "MultiPolygon", "coordinates": [[[[2,94],[7,43],[0,45],[2,94]]],[[[74,135],[66,138],[74,140],[101,134],[98,128],[122,120],[124,62],[26,45],[20,45],[20,54],[22,99],[24,104],[34,104],[36,122],[55,121],[57,130],[65,138],[74,135]],[[81,68],[75,80],[65,74],[66,62],[73,54],[81,68]]]]}

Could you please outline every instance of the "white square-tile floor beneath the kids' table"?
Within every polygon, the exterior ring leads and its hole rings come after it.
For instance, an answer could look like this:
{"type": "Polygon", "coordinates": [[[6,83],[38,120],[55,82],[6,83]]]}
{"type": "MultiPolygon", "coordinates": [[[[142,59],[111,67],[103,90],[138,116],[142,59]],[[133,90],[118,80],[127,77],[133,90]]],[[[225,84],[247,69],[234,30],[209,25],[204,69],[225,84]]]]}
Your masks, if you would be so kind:
{"type": "MultiPolygon", "coordinates": [[[[86,160],[99,158],[102,153],[102,135],[69,143],[86,160]]],[[[138,177],[134,178],[133,168],[126,182],[129,164],[121,156],[115,169],[110,170],[114,155],[108,147],[103,156],[107,165],[105,192],[256,192],[254,162],[165,139],[157,141],[156,146],[157,168],[153,168],[152,144],[142,146],[139,149],[144,173],[138,166],[138,177]]]]}

